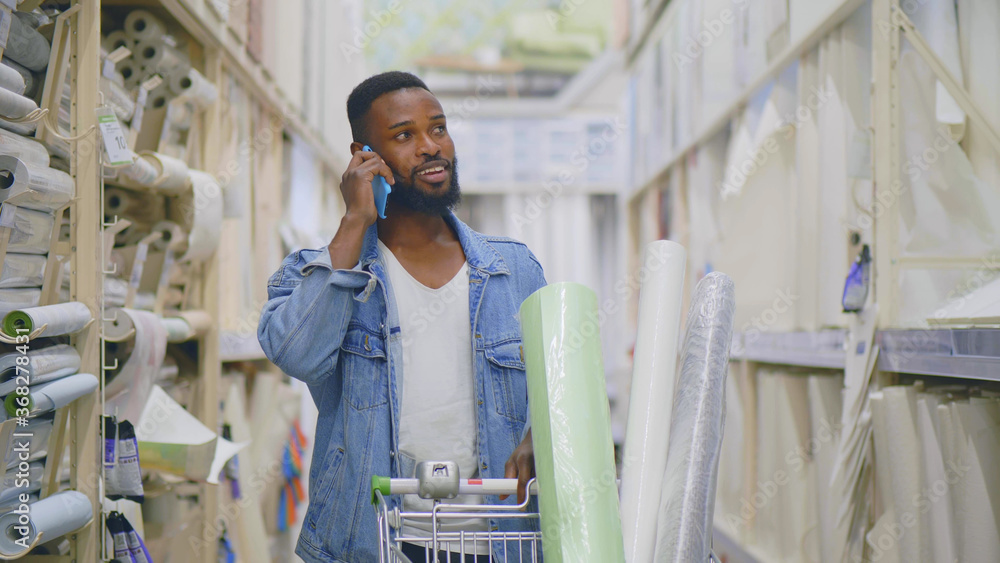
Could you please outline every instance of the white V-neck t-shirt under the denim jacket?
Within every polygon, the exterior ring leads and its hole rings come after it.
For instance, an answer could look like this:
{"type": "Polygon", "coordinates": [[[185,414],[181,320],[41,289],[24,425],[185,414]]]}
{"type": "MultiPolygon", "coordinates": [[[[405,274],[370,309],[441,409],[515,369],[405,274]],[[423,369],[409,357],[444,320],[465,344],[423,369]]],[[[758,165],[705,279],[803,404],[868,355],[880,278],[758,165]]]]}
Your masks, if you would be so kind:
{"type": "MultiPolygon", "coordinates": [[[[416,462],[454,461],[463,479],[475,478],[479,474],[479,450],[469,324],[469,265],[462,264],[451,281],[431,289],[410,275],[382,241],[378,245],[385,257],[403,340],[403,377],[398,382],[402,386],[400,453],[416,462]]],[[[444,502],[482,504],[483,497],[444,502]]],[[[416,495],[403,497],[404,512],[430,512],[432,507],[433,501],[416,495]]],[[[487,530],[483,519],[443,523],[442,531],[487,530]]],[[[403,527],[407,536],[430,537],[430,531],[429,521],[403,527]]]]}

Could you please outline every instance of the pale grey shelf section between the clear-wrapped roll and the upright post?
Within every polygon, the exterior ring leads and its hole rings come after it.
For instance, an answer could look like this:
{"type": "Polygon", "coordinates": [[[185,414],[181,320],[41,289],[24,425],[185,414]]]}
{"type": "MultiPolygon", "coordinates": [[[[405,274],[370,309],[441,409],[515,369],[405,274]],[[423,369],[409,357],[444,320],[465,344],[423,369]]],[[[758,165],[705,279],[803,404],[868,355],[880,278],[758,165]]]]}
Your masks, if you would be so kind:
{"type": "Polygon", "coordinates": [[[731,360],[747,360],[820,369],[844,369],[844,330],[785,333],[737,333],[731,360]]]}

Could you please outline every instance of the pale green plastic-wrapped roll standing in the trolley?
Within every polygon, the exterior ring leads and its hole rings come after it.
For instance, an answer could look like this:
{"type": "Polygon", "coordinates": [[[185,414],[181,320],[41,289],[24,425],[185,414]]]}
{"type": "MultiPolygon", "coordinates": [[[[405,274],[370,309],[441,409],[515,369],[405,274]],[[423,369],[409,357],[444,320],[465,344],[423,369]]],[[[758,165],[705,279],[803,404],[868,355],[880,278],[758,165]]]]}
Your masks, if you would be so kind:
{"type": "Polygon", "coordinates": [[[520,317],[545,560],[623,562],[597,296],[551,284],[520,317]]]}

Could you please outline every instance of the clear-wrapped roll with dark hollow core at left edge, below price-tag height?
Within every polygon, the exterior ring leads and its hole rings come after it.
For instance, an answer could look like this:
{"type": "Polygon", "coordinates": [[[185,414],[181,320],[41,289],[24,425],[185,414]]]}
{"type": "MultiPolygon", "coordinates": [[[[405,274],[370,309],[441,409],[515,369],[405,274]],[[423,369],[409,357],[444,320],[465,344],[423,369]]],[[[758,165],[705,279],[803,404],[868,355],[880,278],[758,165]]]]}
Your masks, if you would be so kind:
{"type": "Polygon", "coordinates": [[[0,155],[0,202],[18,207],[53,212],[73,199],[76,184],[69,174],[54,168],[27,164],[19,158],[0,155]]]}

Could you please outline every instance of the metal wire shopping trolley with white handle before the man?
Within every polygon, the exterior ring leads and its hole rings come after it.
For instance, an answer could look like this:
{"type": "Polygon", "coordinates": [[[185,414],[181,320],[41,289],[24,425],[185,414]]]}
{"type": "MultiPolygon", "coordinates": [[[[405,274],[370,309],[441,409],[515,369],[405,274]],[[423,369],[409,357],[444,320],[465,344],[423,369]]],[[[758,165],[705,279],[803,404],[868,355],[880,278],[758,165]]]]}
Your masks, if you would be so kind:
{"type": "MultiPolygon", "coordinates": [[[[403,542],[424,548],[427,561],[438,563],[440,551],[457,553],[461,561],[474,555],[476,547],[494,547],[502,561],[510,563],[537,563],[541,559],[541,532],[478,532],[442,531],[447,520],[469,518],[538,520],[537,512],[527,510],[531,495],[537,494],[535,480],[528,482],[528,495],[523,503],[509,504],[448,504],[446,501],[459,495],[516,495],[517,479],[460,479],[458,464],[453,462],[425,461],[417,464],[416,478],[390,479],[372,477],[372,504],[378,518],[379,563],[411,563],[402,551],[403,542]],[[389,495],[417,495],[434,501],[430,512],[402,512],[389,508],[389,495]],[[431,537],[410,537],[402,533],[404,522],[429,523],[431,537]],[[499,546],[497,544],[500,544],[499,546]]],[[[533,526],[535,530],[538,526],[533,526]]],[[[455,557],[449,555],[448,558],[455,557]]],[[[485,558],[484,555],[480,557],[485,558]]],[[[478,559],[477,559],[478,560],[478,559]]],[[[490,559],[486,558],[487,561],[490,559]]]]}

